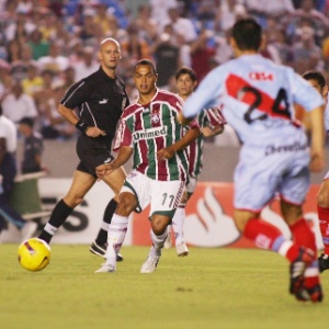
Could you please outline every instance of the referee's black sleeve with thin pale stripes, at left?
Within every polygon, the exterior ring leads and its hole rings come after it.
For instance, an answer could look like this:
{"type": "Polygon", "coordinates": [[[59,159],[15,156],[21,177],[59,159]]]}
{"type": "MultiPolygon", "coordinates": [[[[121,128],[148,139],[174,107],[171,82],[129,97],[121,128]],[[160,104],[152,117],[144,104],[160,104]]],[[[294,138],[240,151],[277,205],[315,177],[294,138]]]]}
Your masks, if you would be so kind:
{"type": "Polygon", "coordinates": [[[86,80],[72,84],[60,100],[60,104],[68,109],[76,109],[88,101],[91,86],[86,80]]]}

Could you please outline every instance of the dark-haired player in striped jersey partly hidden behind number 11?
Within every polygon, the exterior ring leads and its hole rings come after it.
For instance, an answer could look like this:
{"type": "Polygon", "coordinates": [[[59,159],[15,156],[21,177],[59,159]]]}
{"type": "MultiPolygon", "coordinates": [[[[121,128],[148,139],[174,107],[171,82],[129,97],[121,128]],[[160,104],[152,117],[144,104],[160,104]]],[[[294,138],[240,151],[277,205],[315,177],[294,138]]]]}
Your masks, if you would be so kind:
{"type": "MultiPolygon", "coordinates": [[[[175,73],[178,95],[185,101],[188,97],[194,91],[197,80],[196,73],[189,67],[182,67],[175,73]]],[[[202,131],[194,141],[189,145],[189,183],[186,184],[186,193],[177,208],[172,218],[172,230],[175,239],[175,249],[179,257],[188,256],[189,249],[184,241],[184,218],[185,218],[185,205],[195,191],[197,177],[202,170],[203,159],[203,139],[204,137],[212,137],[224,132],[224,125],[226,121],[219,110],[219,106],[214,106],[201,112],[197,115],[197,123],[202,131]]],[[[169,227],[168,238],[164,243],[164,248],[171,247],[171,229],[169,227]]]]}

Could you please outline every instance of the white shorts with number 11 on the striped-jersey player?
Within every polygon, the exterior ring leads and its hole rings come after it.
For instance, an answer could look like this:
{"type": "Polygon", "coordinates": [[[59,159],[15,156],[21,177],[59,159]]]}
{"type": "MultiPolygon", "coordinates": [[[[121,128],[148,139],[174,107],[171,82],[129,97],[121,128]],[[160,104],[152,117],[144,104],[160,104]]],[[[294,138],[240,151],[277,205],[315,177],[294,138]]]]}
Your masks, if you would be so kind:
{"type": "Polygon", "coordinates": [[[149,216],[161,214],[173,217],[184,191],[183,181],[156,181],[133,170],[126,178],[122,192],[134,193],[138,208],[145,209],[150,205],[149,216]]]}

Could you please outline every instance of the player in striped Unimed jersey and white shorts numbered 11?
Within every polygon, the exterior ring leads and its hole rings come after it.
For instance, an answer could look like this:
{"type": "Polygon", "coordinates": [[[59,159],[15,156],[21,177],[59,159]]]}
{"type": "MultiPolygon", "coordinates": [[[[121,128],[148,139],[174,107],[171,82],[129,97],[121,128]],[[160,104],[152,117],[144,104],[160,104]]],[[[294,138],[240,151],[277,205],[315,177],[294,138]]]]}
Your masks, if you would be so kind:
{"type": "Polygon", "coordinates": [[[181,200],[188,178],[185,147],[200,135],[194,121],[190,129],[177,122],[182,100],[157,88],[157,71],[152,61],[139,60],[134,68],[134,83],[139,98],[125,109],[114,149],[116,159],[99,166],[103,177],[123,166],[133,156],[133,170],[118,195],[118,204],[109,227],[106,262],[97,272],[113,272],[115,254],[124,241],[128,216],[135,208],[150,205],[152,247],[141,265],[141,273],[156,270],[168,235],[167,226],[181,200]]]}

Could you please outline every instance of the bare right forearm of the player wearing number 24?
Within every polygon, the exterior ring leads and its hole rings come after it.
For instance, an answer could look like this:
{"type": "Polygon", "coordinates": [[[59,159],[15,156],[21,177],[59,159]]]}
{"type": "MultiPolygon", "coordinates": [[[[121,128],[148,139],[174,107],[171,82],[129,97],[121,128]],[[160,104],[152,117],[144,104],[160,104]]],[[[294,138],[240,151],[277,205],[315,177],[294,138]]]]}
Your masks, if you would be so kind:
{"type": "Polygon", "coordinates": [[[325,127],[324,127],[324,111],[321,106],[309,112],[310,120],[310,164],[311,171],[321,171],[325,166],[325,127]]]}

